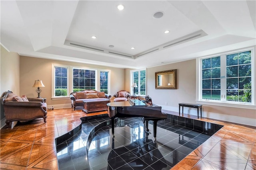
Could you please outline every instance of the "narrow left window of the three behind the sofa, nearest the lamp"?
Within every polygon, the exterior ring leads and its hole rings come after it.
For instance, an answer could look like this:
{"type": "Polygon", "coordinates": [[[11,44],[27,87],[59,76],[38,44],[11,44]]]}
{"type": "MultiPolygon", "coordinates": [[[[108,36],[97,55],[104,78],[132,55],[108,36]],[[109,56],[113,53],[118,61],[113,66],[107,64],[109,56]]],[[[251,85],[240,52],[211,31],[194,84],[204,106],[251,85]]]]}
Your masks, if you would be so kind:
{"type": "Polygon", "coordinates": [[[68,67],[54,66],[54,97],[68,96],[68,67]]]}

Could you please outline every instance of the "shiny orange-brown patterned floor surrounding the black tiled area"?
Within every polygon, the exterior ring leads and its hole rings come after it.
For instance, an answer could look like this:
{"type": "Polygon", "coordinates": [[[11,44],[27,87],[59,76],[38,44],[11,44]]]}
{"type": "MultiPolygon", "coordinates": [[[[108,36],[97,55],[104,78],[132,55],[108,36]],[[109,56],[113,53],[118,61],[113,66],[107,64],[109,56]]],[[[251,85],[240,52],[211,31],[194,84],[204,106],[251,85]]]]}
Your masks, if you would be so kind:
{"type": "MultiPolygon", "coordinates": [[[[176,112],[162,112],[178,115],[176,112]]],[[[0,168],[58,169],[55,138],[78,127],[81,124],[80,117],[84,116],[90,116],[90,114],[86,115],[81,110],[74,111],[71,108],[48,110],[47,123],[38,119],[29,123],[19,123],[12,129],[2,128],[0,131],[0,168]]],[[[186,114],[184,117],[197,119],[196,116],[186,114]]],[[[206,118],[198,120],[224,125],[224,127],[178,162],[172,170],[256,169],[255,127],[206,118]]],[[[89,149],[89,155],[90,150],[92,148],[89,149]]],[[[90,158],[93,156],[89,157],[89,164],[93,164],[90,163],[90,158]]],[[[90,166],[93,167],[93,165],[90,166]]]]}

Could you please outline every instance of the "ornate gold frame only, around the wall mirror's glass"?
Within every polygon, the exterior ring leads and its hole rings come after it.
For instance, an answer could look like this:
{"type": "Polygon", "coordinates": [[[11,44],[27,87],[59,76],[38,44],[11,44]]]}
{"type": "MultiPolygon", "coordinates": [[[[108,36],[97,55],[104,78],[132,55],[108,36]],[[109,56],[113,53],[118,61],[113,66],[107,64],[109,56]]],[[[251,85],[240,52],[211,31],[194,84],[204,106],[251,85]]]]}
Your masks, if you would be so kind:
{"type": "Polygon", "coordinates": [[[156,89],[177,89],[177,69],[155,72],[156,89]],[[158,86],[158,76],[164,74],[173,74],[173,85],[171,86],[158,86]]]}

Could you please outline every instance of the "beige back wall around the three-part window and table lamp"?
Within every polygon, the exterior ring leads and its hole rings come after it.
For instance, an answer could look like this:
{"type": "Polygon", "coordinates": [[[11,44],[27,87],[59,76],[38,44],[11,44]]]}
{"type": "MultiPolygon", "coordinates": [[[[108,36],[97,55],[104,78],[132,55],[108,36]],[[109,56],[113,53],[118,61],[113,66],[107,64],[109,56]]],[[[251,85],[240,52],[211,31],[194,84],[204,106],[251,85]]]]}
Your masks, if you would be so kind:
{"type": "MultiPolygon", "coordinates": [[[[35,57],[20,57],[20,95],[26,95],[28,97],[37,97],[36,88],[33,88],[35,80],[42,80],[45,87],[40,88],[42,90],[40,96],[47,98],[48,106],[56,105],[68,105],[71,107],[70,98],[64,100],[52,100],[52,64],[106,69],[110,70],[111,82],[110,82],[110,94],[113,96],[119,90],[124,88],[124,69],[113,68],[106,66],[98,66],[92,64],[74,63],[66,61],[57,61],[50,59],[40,59],[35,57]]],[[[72,70],[70,70],[70,77],[72,76],[72,70]]],[[[72,80],[72,78],[71,78],[72,80]]],[[[69,84],[72,86],[72,82],[69,84]]],[[[112,97],[113,100],[113,97],[112,97]]]]}

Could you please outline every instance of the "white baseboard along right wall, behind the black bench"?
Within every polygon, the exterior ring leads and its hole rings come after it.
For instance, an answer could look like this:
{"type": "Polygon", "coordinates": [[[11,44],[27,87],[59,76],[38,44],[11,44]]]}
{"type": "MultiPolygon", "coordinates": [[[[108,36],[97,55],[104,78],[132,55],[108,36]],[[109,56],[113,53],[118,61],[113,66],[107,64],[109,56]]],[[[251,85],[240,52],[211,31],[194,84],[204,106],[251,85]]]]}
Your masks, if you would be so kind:
{"type": "MultiPolygon", "coordinates": [[[[158,104],[156,104],[158,105],[158,104]]],[[[175,111],[179,112],[178,107],[172,107],[172,106],[166,106],[166,105],[158,105],[161,106],[162,109],[168,110],[168,111],[175,111]]],[[[180,112],[182,113],[182,108],[180,108],[180,112]]],[[[190,115],[196,115],[197,116],[197,109],[190,108],[190,107],[184,107],[184,113],[188,113],[190,115]]],[[[200,116],[200,111],[199,111],[199,116],[200,116]]],[[[255,119],[250,119],[246,117],[238,117],[238,116],[232,116],[232,115],[224,115],[220,113],[211,113],[211,112],[202,112],[202,117],[207,117],[211,119],[217,119],[217,120],[222,120],[222,121],[229,121],[232,123],[239,123],[243,125],[250,125],[250,126],[255,126],[256,127],[256,121],[255,119]]]]}

